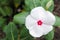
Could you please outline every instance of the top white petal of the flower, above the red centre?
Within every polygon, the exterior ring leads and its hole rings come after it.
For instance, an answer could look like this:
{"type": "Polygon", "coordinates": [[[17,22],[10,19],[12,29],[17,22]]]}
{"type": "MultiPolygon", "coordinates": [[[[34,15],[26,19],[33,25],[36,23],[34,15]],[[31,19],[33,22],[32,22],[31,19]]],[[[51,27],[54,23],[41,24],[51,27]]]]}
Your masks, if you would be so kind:
{"type": "Polygon", "coordinates": [[[36,20],[42,20],[43,23],[47,22],[46,14],[47,12],[42,7],[36,7],[32,9],[31,16],[36,20]]]}

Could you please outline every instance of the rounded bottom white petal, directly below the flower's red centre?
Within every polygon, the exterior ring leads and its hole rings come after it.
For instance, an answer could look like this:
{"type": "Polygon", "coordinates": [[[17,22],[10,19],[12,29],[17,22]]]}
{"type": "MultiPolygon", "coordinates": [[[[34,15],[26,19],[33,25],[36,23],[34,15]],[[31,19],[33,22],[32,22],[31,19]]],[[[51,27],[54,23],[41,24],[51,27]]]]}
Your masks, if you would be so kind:
{"type": "Polygon", "coordinates": [[[37,24],[31,26],[32,28],[29,29],[29,33],[30,35],[32,35],[33,37],[41,37],[43,36],[43,27],[42,26],[38,26],[37,24]]]}

